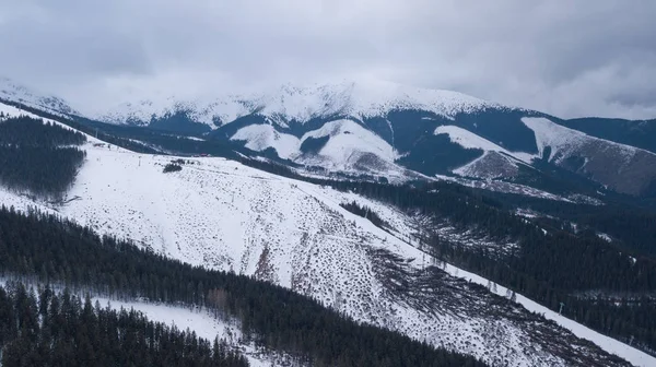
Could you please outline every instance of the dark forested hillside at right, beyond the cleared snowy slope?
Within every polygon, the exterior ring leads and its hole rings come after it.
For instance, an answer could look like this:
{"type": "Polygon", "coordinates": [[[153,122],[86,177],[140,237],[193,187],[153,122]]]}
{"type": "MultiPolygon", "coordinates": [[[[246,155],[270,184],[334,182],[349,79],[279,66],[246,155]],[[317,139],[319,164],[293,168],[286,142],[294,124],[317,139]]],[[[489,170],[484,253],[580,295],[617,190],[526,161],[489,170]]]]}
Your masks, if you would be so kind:
{"type": "Polygon", "coordinates": [[[656,261],[630,258],[625,249],[597,236],[574,235],[558,227],[548,234],[509,213],[480,191],[446,182],[420,188],[374,182],[333,182],[335,188],[475,228],[519,247],[507,257],[489,249],[462,247],[437,234],[424,250],[480,274],[604,334],[645,352],[656,351],[656,261]],[[583,296],[594,293],[596,296],[583,296]]]}

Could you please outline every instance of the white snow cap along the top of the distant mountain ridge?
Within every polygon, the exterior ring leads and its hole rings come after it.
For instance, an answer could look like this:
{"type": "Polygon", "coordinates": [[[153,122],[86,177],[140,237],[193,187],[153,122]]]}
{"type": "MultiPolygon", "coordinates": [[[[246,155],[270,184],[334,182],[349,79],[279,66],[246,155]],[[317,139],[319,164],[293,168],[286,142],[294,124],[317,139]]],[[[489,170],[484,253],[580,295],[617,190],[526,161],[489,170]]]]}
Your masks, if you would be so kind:
{"type": "Polygon", "coordinates": [[[148,123],[162,117],[187,111],[196,121],[211,128],[249,114],[267,116],[276,123],[305,122],[315,117],[382,116],[394,109],[422,109],[446,118],[472,113],[496,104],[461,93],[425,90],[377,80],[343,81],[332,84],[285,84],[265,93],[243,95],[203,95],[194,98],[167,96],[141,102],[125,102],[109,110],[81,110],[90,118],[113,123],[129,119],[148,123]]]}

